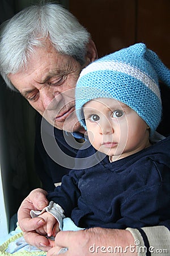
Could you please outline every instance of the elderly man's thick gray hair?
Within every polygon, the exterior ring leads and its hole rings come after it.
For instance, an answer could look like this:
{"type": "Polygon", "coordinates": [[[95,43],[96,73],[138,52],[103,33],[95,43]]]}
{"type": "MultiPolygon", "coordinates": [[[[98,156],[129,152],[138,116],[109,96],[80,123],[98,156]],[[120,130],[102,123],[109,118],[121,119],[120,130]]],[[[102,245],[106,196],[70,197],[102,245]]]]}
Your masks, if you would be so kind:
{"type": "Polygon", "coordinates": [[[47,38],[59,53],[84,64],[90,34],[75,16],[54,3],[29,6],[1,26],[0,72],[12,90],[7,75],[24,71],[35,46],[43,47],[47,38]]]}

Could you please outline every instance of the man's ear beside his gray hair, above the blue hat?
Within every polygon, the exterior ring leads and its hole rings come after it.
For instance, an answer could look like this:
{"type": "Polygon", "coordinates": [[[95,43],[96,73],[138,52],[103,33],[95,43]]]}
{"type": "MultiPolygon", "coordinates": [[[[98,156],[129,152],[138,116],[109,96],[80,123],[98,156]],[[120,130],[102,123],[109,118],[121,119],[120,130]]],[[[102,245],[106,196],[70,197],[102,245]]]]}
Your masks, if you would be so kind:
{"type": "Polygon", "coordinates": [[[89,42],[86,46],[86,49],[87,49],[87,52],[86,52],[85,66],[87,66],[94,60],[98,59],[97,49],[96,49],[95,43],[92,39],[89,40],[89,42]]]}

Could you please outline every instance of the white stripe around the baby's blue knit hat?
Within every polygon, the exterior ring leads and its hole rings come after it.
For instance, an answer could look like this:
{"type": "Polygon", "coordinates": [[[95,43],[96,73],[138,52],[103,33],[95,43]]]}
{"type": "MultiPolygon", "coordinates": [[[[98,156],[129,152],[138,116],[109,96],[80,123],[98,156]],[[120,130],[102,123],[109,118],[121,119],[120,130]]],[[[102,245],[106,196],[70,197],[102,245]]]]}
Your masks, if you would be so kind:
{"type": "Polygon", "coordinates": [[[149,76],[143,73],[140,69],[135,68],[126,63],[121,63],[113,60],[97,61],[97,62],[91,63],[85,69],[83,69],[79,77],[87,75],[90,72],[104,71],[104,70],[118,71],[121,73],[125,73],[126,75],[130,75],[135,79],[138,79],[139,81],[143,82],[143,84],[145,84],[150,90],[152,90],[152,92],[156,94],[156,96],[159,98],[161,102],[160,90],[156,82],[154,82],[154,80],[152,80],[149,76]]]}

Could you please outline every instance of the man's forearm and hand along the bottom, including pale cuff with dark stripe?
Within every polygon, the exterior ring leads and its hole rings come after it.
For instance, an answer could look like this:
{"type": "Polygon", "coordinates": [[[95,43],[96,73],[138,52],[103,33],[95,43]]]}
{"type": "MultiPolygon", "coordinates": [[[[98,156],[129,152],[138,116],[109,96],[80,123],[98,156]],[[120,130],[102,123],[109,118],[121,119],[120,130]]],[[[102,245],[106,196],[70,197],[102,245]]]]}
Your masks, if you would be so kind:
{"type": "Polygon", "coordinates": [[[169,255],[170,232],[165,226],[138,229],[91,228],[77,232],[59,232],[55,246],[46,256],[56,256],[62,247],[67,247],[67,256],[154,256],[169,255]],[[162,254],[164,251],[164,254],[162,254]]]}

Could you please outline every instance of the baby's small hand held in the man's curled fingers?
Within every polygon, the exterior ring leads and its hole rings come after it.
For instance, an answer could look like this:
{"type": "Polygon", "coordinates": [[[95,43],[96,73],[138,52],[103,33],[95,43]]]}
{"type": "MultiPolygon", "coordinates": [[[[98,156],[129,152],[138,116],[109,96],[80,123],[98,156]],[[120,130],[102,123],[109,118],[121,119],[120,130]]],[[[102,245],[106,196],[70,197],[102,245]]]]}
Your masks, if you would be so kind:
{"type": "Polygon", "coordinates": [[[39,217],[44,219],[45,224],[39,229],[36,229],[36,232],[41,235],[47,235],[48,237],[55,237],[59,232],[59,224],[56,218],[54,218],[54,216],[48,212],[40,214],[39,217]]]}

